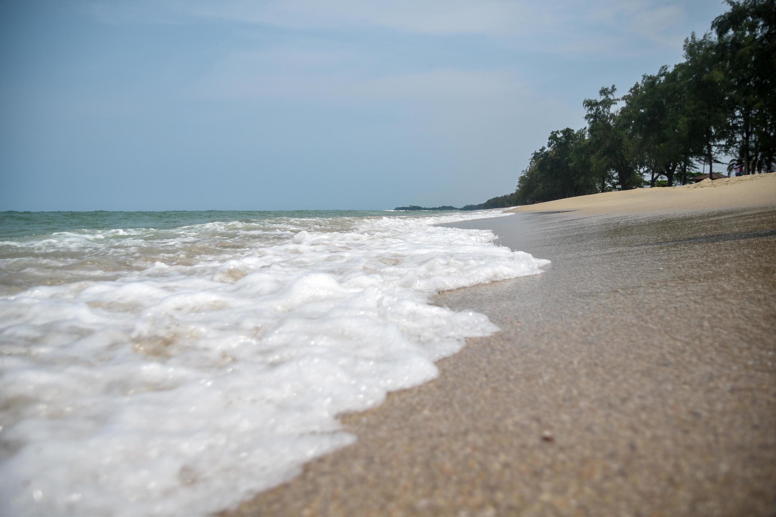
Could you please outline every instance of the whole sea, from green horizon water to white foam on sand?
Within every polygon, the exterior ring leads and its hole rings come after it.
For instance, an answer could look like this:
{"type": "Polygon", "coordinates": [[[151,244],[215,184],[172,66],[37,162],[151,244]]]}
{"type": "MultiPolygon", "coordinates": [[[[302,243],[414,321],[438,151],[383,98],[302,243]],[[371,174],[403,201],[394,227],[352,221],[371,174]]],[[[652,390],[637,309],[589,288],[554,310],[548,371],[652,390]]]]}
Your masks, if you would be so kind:
{"type": "Polygon", "coordinates": [[[479,212],[0,213],[0,514],[204,515],[353,443],[337,415],[497,327],[539,274],[479,212]]]}

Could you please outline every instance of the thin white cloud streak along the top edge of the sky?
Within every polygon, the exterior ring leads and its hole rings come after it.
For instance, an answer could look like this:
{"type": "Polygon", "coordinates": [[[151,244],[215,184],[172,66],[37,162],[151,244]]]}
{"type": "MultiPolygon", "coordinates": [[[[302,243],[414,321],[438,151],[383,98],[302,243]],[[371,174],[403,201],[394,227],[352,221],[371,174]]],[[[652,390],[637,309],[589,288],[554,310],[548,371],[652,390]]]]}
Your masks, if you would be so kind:
{"type": "Polygon", "coordinates": [[[684,7],[635,2],[507,2],[504,0],[199,0],[196,2],[95,2],[102,22],[236,23],[342,36],[383,29],[424,36],[484,36],[510,50],[569,57],[639,55],[644,43],[681,47],[684,7]],[[635,42],[633,36],[639,36],[635,42]]]}

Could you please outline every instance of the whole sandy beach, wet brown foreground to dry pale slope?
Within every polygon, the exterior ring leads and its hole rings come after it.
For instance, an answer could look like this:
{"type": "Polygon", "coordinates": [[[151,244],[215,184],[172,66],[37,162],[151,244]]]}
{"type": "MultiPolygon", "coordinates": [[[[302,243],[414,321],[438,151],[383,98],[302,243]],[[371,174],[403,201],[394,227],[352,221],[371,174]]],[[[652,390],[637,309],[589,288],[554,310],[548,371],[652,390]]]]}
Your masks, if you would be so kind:
{"type": "Polygon", "coordinates": [[[501,333],[231,513],[774,515],[774,178],[459,223],[553,264],[438,295],[501,333]]]}

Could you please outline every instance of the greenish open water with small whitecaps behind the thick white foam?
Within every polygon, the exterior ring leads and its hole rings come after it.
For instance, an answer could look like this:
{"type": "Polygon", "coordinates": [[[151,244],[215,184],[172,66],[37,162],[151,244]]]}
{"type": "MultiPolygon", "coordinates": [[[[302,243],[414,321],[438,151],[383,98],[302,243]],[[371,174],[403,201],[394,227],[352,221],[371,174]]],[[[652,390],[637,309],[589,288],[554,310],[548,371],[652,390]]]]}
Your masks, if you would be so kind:
{"type": "Polygon", "coordinates": [[[0,212],[0,296],[36,285],[116,280],[160,262],[189,267],[244,257],[300,231],[351,232],[372,219],[441,212],[204,210],[0,212]]]}

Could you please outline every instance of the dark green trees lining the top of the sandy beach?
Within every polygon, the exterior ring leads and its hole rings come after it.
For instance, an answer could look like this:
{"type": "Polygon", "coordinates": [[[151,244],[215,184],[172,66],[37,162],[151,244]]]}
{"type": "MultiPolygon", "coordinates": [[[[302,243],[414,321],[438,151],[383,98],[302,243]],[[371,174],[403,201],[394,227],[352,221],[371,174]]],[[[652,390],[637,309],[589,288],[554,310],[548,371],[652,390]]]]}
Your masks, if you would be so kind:
{"type": "MultiPolygon", "coordinates": [[[[700,174],[772,171],[776,159],[776,0],[726,0],[684,61],[586,98],[587,126],[549,134],[517,189],[465,209],[525,205],[617,188],[686,184],[700,174]],[[715,167],[717,166],[717,167],[715,167]],[[721,167],[720,167],[721,166],[721,167]]],[[[712,177],[713,179],[713,177],[712,177]]]]}

